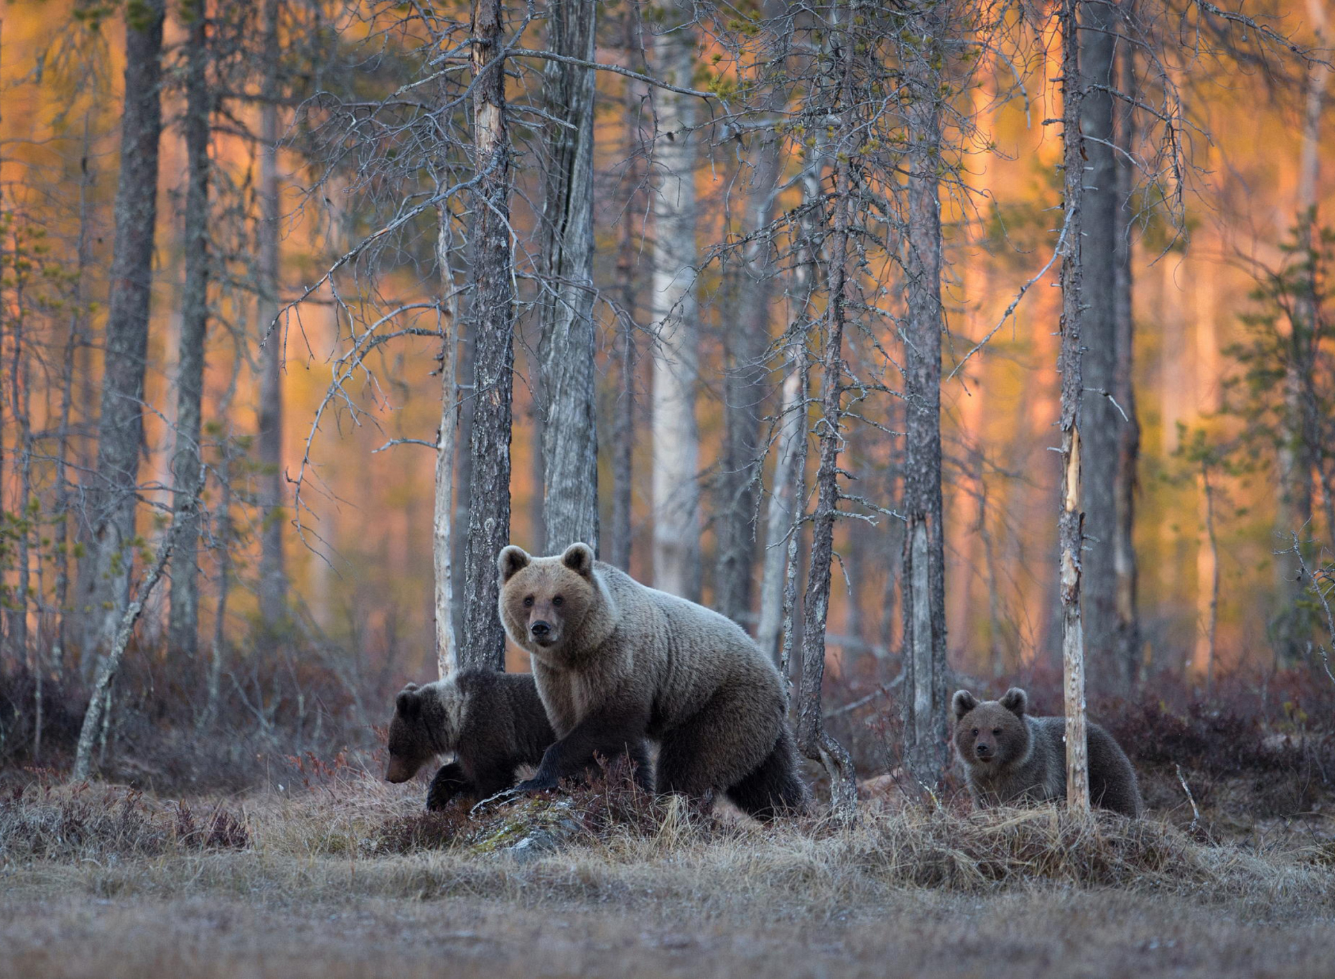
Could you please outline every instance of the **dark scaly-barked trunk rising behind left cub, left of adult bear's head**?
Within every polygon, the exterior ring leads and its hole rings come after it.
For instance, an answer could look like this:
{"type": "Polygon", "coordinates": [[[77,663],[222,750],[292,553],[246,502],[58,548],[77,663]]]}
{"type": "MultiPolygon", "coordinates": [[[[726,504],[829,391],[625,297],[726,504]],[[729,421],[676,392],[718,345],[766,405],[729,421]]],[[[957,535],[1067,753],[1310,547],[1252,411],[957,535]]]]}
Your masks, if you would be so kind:
{"type": "Polygon", "coordinates": [[[473,142],[477,188],[469,268],[474,334],[469,537],[459,665],[505,669],[497,613],[497,554],[510,542],[510,401],[514,385],[514,284],[510,254],[510,136],[505,119],[505,7],[473,7],[473,142]]]}

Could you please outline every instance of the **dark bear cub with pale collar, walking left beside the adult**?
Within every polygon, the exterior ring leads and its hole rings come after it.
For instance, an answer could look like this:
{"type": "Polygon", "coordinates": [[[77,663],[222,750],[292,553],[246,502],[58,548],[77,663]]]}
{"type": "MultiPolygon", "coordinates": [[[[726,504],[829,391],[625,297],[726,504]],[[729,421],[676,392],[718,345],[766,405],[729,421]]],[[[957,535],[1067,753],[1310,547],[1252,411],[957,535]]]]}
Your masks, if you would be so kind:
{"type": "Polygon", "coordinates": [[[437,755],[454,755],[431,780],[426,808],[473,800],[514,785],[514,769],[537,765],[557,736],[527,673],[465,669],[434,684],[409,684],[394,700],[387,781],[407,781],[437,755]]]}

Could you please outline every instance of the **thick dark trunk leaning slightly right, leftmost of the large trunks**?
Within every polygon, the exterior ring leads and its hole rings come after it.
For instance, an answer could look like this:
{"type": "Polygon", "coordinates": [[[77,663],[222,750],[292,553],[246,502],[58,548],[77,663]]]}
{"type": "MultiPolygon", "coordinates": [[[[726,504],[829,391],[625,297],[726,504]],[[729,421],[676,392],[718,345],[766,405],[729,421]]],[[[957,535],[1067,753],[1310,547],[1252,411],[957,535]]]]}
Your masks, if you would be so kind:
{"type": "Polygon", "coordinates": [[[162,135],[162,44],[166,0],[140,0],[125,17],[125,95],[116,184],[116,236],[103,354],[97,466],[88,487],[91,533],[81,605],[84,662],[105,653],[129,601],[135,486],[144,442],[144,362],[154,231],[158,222],[158,142],[162,135]]]}

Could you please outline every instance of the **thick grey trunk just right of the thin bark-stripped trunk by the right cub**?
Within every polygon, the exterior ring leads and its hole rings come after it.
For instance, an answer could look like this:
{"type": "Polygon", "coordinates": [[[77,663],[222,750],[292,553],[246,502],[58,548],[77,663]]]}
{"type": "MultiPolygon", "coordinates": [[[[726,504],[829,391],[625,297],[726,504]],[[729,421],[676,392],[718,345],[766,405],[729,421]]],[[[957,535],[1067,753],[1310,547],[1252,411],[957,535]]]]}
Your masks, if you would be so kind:
{"type": "Polygon", "coordinates": [[[1081,373],[1080,437],[1084,479],[1081,492],[1088,546],[1081,582],[1081,616],[1088,664],[1100,689],[1125,691],[1129,662],[1117,654],[1117,470],[1123,419],[1117,405],[1120,363],[1117,350],[1119,240],[1125,236],[1125,215],[1119,195],[1112,91],[1116,89],[1116,48],[1120,19],[1111,3],[1081,5],[1080,59],[1092,88],[1081,102],[1081,127],[1088,154],[1081,240],[1088,272],[1084,275],[1081,335],[1087,346],[1081,373]]]}

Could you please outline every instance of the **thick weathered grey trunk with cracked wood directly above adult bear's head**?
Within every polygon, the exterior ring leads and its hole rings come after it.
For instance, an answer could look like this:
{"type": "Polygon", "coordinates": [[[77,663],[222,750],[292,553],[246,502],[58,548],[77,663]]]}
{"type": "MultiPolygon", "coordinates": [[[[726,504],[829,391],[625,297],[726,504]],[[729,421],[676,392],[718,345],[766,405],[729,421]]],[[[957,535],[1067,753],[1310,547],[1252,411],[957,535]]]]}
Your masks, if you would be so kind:
{"type": "MultiPolygon", "coordinates": [[[[598,5],[551,4],[549,47],[594,60],[598,5]]],[[[549,132],[542,207],[538,341],[542,391],[542,500],[546,553],[583,541],[598,553],[598,429],[593,327],[591,68],[549,61],[549,132]]]]}

